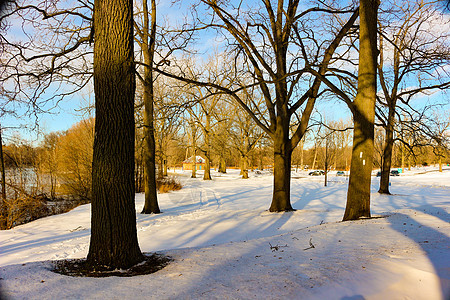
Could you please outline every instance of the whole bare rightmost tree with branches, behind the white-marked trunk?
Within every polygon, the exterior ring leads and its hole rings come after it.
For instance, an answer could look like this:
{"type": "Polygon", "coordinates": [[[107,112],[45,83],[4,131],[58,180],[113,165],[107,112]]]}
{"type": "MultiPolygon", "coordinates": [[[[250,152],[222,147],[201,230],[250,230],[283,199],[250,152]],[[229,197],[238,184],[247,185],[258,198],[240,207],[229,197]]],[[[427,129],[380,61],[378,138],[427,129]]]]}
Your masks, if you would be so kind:
{"type": "Polygon", "coordinates": [[[450,60],[450,34],[445,30],[429,30],[434,24],[445,28],[449,21],[439,13],[435,1],[408,1],[401,9],[397,6],[398,3],[394,3],[388,10],[388,20],[380,20],[383,34],[380,37],[378,76],[383,93],[379,97],[381,107],[377,116],[386,132],[378,190],[382,194],[390,194],[389,174],[394,142],[399,140],[407,144],[401,132],[397,138],[394,137],[401,111],[414,111],[410,105],[415,96],[450,86],[448,72],[445,71],[450,60]]]}

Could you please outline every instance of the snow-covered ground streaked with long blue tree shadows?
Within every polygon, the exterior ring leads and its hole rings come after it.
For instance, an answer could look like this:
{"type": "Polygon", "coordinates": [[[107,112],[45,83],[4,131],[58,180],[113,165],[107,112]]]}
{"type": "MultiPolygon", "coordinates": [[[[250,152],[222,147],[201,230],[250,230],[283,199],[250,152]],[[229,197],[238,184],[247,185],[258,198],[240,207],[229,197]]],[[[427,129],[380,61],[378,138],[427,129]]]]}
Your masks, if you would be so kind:
{"type": "MultiPolygon", "coordinates": [[[[136,277],[75,278],[51,260],[87,255],[90,205],[0,232],[0,298],[6,299],[450,299],[450,169],[406,171],[380,218],[340,222],[347,178],[293,173],[297,211],[269,213],[273,177],[237,171],[212,181],[181,176],[159,195],[159,215],[137,214],[143,252],[174,261],[136,277]]],[[[143,195],[136,195],[136,209],[143,195]]]]}

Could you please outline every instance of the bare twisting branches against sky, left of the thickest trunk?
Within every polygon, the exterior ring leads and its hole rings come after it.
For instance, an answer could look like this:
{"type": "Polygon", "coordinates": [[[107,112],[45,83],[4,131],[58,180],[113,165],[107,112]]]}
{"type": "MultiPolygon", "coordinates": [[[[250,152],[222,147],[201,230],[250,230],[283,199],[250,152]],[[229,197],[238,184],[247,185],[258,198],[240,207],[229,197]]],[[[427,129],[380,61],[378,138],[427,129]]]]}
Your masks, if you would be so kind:
{"type": "Polygon", "coordinates": [[[33,117],[82,90],[92,78],[90,1],[14,0],[0,16],[3,113],[33,117]]]}

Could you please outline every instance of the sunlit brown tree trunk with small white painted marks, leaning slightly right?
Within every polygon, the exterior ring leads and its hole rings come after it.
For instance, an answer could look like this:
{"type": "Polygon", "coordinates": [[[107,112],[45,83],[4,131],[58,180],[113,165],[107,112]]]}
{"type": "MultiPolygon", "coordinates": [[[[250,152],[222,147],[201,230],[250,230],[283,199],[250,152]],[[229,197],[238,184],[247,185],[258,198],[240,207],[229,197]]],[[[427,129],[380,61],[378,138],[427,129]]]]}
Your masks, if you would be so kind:
{"type": "Polygon", "coordinates": [[[370,217],[370,183],[377,90],[378,4],[378,0],[361,0],[359,7],[358,92],[353,103],[353,149],[344,221],[370,217]]]}

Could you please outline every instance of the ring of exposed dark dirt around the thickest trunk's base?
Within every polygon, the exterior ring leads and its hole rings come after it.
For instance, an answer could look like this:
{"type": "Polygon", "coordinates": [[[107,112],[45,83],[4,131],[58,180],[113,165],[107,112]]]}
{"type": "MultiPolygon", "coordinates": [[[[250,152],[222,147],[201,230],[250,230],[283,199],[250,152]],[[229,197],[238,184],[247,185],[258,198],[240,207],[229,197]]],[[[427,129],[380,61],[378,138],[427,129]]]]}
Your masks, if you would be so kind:
{"type": "Polygon", "coordinates": [[[145,260],[139,264],[123,270],[112,269],[108,266],[91,266],[86,259],[66,259],[54,262],[55,273],[74,277],[131,277],[155,273],[167,266],[172,258],[161,254],[144,254],[145,260]]]}

